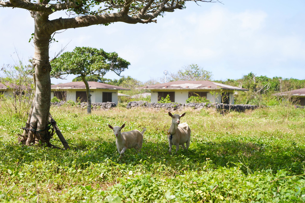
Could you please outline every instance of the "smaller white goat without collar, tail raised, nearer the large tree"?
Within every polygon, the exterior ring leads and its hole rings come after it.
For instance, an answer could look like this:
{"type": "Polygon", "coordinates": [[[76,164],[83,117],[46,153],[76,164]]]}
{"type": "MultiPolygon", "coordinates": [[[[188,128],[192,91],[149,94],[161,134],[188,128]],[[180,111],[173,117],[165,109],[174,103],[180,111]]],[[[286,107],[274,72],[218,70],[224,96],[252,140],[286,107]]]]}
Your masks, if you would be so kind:
{"type": "Polygon", "coordinates": [[[143,134],[146,131],[146,128],[144,128],[142,132],[138,130],[121,132],[122,128],[125,127],[125,123],[122,126],[112,127],[109,124],[108,126],[113,130],[113,133],[117,138],[115,144],[117,145],[117,151],[119,151],[120,155],[123,155],[126,149],[130,148],[135,148],[138,149],[138,151],[141,151],[143,143],[143,134]]]}

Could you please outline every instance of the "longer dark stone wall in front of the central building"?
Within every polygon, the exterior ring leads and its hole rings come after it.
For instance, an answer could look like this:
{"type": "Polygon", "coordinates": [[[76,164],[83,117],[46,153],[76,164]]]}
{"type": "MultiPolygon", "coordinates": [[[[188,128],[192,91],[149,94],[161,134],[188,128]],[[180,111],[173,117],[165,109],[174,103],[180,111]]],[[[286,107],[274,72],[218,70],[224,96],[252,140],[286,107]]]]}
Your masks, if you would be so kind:
{"type": "Polygon", "coordinates": [[[169,111],[174,110],[182,110],[185,107],[191,107],[194,109],[203,109],[203,108],[215,108],[217,110],[232,110],[232,111],[238,111],[243,112],[245,110],[253,110],[258,108],[256,105],[248,105],[248,104],[235,104],[235,105],[229,105],[229,104],[211,104],[211,103],[185,103],[185,104],[178,104],[178,103],[149,103],[145,101],[134,101],[134,102],[128,102],[126,108],[131,109],[135,107],[143,107],[143,108],[156,108],[156,109],[167,109],[169,111]]]}

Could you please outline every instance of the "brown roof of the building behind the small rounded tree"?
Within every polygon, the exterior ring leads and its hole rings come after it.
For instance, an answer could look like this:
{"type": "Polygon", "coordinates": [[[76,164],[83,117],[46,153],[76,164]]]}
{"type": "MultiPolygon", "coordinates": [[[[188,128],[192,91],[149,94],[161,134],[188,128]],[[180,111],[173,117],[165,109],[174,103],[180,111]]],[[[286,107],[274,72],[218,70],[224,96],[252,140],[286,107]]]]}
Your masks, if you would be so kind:
{"type": "MultiPolygon", "coordinates": [[[[109,90],[130,90],[124,87],[118,87],[115,85],[109,85],[99,82],[88,82],[90,89],[109,89],[109,90]]],[[[70,82],[57,85],[51,85],[51,89],[86,89],[84,82],[70,82]]]]}

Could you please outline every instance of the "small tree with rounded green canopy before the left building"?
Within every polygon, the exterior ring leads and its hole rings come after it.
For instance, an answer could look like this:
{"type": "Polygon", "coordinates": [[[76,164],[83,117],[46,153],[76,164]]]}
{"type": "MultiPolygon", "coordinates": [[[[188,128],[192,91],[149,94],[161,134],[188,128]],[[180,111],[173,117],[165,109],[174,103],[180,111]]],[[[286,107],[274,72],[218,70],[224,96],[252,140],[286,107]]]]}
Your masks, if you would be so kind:
{"type": "Polygon", "coordinates": [[[73,52],[65,52],[53,60],[51,65],[51,77],[61,78],[66,74],[81,77],[86,86],[87,113],[91,113],[91,94],[86,76],[103,77],[109,71],[120,75],[130,63],[118,57],[116,52],[107,53],[102,49],[76,47],[73,52]]]}

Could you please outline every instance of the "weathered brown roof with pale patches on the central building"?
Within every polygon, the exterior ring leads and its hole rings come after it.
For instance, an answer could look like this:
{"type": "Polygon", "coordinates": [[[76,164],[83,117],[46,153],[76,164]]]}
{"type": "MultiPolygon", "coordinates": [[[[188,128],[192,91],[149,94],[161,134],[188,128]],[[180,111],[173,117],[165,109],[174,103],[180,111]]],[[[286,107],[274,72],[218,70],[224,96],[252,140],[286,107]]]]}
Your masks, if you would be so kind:
{"type": "Polygon", "coordinates": [[[241,87],[234,87],[231,85],[225,85],[221,83],[215,83],[208,80],[195,80],[195,81],[173,81],[169,83],[149,85],[145,87],[139,87],[138,89],[144,90],[181,90],[181,89],[191,89],[191,90],[240,90],[240,91],[249,91],[241,87]]]}

